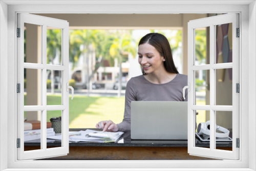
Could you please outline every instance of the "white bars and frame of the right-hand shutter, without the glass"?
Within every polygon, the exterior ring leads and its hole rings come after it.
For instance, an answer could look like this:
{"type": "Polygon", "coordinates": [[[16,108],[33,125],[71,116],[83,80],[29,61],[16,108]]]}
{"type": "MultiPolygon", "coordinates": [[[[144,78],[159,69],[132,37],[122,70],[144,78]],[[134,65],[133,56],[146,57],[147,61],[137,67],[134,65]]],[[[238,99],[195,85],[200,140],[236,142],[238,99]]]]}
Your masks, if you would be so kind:
{"type": "Polygon", "coordinates": [[[230,13],[207,18],[190,20],[188,23],[188,153],[195,156],[210,156],[217,159],[239,159],[239,148],[236,147],[236,138],[239,138],[239,95],[236,93],[236,83],[239,83],[239,37],[236,37],[236,28],[239,28],[239,14],[230,13]],[[216,26],[232,23],[232,62],[216,63],[216,26]],[[209,27],[209,64],[195,64],[195,30],[209,27]],[[216,105],[216,69],[232,68],[232,105],[216,105]],[[210,104],[197,105],[195,91],[195,71],[209,71],[210,74],[210,104]],[[210,113],[210,148],[195,145],[195,111],[206,110],[210,113]],[[216,111],[232,112],[232,151],[216,149],[216,111]]]}

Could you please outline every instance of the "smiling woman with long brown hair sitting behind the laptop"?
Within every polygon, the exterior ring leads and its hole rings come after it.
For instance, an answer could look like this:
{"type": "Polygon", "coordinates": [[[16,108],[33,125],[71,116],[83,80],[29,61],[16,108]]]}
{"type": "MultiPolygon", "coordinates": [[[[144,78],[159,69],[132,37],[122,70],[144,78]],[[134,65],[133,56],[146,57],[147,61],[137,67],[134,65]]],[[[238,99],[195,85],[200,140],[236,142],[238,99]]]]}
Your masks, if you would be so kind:
{"type": "Polygon", "coordinates": [[[143,75],[127,82],[123,121],[101,121],[96,124],[103,131],[125,132],[124,140],[131,139],[131,101],[187,101],[182,89],[187,86],[187,76],[177,71],[167,38],[159,33],[149,33],[138,46],[139,63],[143,75]]]}

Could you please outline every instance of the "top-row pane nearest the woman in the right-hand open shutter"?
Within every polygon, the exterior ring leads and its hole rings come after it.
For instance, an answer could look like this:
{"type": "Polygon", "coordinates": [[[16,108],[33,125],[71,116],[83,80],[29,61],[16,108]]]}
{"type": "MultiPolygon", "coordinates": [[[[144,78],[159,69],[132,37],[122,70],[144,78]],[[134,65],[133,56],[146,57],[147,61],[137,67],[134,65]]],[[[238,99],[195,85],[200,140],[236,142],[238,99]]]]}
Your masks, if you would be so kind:
{"type": "Polygon", "coordinates": [[[195,29],[195,65],[209,64],[209,58],[207,54],[209,36],[209,27],[203,27],[195,29]]]}

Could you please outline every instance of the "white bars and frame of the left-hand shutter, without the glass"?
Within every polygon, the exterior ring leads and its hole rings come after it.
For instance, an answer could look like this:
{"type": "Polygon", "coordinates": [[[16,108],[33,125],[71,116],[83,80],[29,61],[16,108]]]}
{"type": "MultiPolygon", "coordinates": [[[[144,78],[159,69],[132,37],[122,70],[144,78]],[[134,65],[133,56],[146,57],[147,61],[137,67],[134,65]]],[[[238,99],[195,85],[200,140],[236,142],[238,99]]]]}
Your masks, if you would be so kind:
{"type": "MultiPolygon", "coordinates": [[[[18,13],[17,28],[20,37],[17,38],[17,83],[20,83],[20,93],[17,94],[17,138],[20,139],[20,148],[17,148],[18,160],[41,159],[56,156],[65,156],[69,153],[69,23],[66,20],[49,17],[18,13]],[[24,24],[34,24],[41,27],[41,62],[24,62],[24,24]],[[47,64],[47,27],[61,30],[61,64],[47,64]],[[24,69],[39,69],[41,78],[41,105],[24,105],[24,69]],[[47,105],[46,80],[47,70],[61,71],[61,104],[47,105]],[[24,151],[24,111],[41,111],[41,148],[24,151]],[[47,148],[46,123],[47,111],[61,111],[61,146],[47,148]]],[[[40,93],[40,92],[39,92],[40,93]]]]}

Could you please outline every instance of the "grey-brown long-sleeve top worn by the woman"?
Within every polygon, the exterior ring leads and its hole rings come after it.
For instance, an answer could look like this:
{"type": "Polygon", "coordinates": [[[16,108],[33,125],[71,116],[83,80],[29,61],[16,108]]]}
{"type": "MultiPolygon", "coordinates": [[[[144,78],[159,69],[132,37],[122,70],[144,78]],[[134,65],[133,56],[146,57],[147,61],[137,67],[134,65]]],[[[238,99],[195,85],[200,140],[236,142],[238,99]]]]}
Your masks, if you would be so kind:
{"type": "MultiPolygon", "coordinates": [[[[123,121],[118,126],[118,131],[131,131],[131,101],[187,101],[183,88],[187,86],[187,75],[177,74],[167,83],[156,84],[148,81],[143,75],[133,77],[127,82],[125,90],[125,109],[123,121]]],[[[129,138],[130,134],[127,134],[129,138]]]]}

